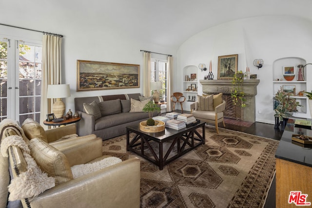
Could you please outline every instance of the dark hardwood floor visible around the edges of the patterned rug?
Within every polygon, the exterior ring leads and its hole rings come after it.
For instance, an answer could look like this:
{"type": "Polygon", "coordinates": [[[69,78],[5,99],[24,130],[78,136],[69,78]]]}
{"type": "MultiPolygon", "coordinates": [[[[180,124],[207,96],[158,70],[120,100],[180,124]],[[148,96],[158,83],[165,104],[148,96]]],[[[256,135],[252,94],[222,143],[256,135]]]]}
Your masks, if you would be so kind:
{"type": "MultiPolygon", "coordinates": [[[[181,111],[179,110],[177,110],[176,112],[181,113],[181,111]]],[[[184,111],[183,113],[191,113],[191,112],[184,111]]],[[[233,131],[245,132],[257,136],[262,136],[270,139],[275,139],[278,141],[281,139],[281,136],[283,134],[283,131],[280,130],[280,127],[278,129],[274,129],[273,124],[266,124],[261,122],[255,122],[250,127],[241,127],[231,124],[225,124],[225,127],[223,127],[222,124],[219,124],[219,127],[233,131]]],[[[268,192],[264,208],[275,208],[275,176],[273,178],[271,188],[268,192]]]]}

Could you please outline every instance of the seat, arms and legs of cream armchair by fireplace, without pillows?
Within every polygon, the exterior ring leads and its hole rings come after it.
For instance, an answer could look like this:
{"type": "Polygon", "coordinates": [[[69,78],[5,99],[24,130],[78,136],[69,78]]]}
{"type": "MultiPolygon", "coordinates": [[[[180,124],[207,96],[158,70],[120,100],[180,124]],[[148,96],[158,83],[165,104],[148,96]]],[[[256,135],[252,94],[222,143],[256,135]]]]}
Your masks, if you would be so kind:
{"type": "Polygon", "coordinates": [[[225,127],[225,123],[223,120],[223,111],[225,110],[226,102],[222,100],[222,103],[215,106],[214,111],[198,111],[198,101],[195,101],[191,104],[191,112],[196,119],[205,121],[207,123],[214,123],[215,130],[219,133],[218,123],[222,122],[225,127]]]}

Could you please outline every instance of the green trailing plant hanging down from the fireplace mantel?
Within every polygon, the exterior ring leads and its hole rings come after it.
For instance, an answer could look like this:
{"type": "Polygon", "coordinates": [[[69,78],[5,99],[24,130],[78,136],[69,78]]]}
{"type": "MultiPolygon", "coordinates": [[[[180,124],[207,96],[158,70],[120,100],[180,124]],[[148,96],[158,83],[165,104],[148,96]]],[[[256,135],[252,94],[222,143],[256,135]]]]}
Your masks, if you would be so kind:
{"type": "Polygon", "coordinates": [[[240,106],[242,108],[246,107],[246,98],[244,97],[243,91],[243,81],[244,81],[244,74],[242,71],[238,71],[232,78],[232,90],[231,90],[231,97],[233,98],[233,104],[237,105],[240,101],[240,106]]]}

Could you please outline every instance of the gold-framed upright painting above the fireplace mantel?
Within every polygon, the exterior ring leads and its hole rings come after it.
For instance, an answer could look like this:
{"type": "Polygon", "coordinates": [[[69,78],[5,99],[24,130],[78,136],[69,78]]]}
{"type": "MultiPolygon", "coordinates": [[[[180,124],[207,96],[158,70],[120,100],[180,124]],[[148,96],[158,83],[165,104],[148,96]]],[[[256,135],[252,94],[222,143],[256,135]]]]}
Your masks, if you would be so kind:
{"type": "Polygon", "coordinates": [[[232,79],[237,72],[238,55],[218,57],[218,79],[232,79]]]}

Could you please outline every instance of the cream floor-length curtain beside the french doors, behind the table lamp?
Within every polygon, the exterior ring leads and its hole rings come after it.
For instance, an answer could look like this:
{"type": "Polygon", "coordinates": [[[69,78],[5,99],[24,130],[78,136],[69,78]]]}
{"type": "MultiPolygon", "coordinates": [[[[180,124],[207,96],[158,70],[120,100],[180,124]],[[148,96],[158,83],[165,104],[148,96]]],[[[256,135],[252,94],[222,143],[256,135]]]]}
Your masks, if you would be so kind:
{"type": "Polygon", "coordinates": [[[53,35],[43,35],[42,40],[42,81],[40,101],[40,123],[46,114],[52,112],[53,99],[47,98],[49,84],[61,84],[61,40],[62,38],[53,35]]]}

